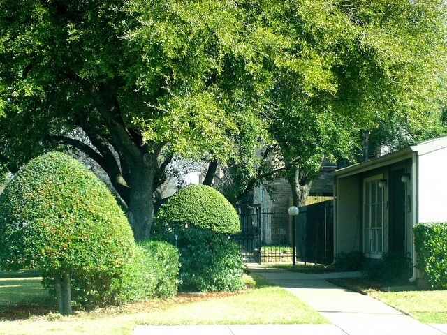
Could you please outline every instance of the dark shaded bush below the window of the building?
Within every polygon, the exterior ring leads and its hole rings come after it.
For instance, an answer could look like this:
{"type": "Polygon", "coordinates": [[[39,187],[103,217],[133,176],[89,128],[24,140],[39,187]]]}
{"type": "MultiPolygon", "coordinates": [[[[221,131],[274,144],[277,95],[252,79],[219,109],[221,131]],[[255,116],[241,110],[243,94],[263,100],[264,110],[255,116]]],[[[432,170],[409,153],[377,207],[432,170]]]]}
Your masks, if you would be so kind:
{"type": "Polygon", "coordinates": [[[380,260],[365,260],[363,271],[367,278],[382,283],[404,283],[411,277],[411,259],[408,256],[385,253],[380,260]]]}

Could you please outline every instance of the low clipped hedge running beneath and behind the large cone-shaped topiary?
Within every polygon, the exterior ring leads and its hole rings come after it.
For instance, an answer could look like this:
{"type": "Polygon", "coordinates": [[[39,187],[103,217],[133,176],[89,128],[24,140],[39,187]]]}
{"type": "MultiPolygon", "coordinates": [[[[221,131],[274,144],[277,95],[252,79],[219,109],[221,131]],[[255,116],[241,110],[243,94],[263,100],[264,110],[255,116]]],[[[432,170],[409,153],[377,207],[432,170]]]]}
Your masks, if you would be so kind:
{"type": "MultiPolygon", "coordinates": [[[[138,241],[135,253],[119,276],[108,273],[71,276],[73,305],[83,308],[122,305],[134,301],[173,297],[179,285],[179,252],[166,241],[138,241]]],[[[43,285],[54,293],[54,280],[43,285]]]]}

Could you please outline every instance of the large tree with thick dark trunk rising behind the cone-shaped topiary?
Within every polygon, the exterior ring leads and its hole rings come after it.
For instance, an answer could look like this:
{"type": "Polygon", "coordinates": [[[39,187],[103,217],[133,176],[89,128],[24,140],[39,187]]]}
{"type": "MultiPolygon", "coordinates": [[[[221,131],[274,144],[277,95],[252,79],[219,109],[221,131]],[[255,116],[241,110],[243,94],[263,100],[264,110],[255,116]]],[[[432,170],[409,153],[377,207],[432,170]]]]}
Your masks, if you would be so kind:
{"type": "Polygon", "coordinates": [[[14,171],[51,144],[84,151],[148,237],[173,153],[224,160],[258,104],[246,23],[234,1],[1,1],[1,159],[14,171]]]}

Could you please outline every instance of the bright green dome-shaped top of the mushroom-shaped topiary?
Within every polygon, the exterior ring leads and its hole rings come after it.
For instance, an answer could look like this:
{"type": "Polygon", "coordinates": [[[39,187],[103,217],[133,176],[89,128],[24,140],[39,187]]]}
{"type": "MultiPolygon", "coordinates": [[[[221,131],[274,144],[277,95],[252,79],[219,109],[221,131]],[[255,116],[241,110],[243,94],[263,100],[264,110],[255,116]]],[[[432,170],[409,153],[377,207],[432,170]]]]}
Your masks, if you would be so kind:
{"type": "Polygon", "coordinates": [[[239,217],[226,198],[210,186],[190,185],[180,189],[164,204],[156,218],[156,230],[189,227],[223,234],[240,231],[239,217]]]}

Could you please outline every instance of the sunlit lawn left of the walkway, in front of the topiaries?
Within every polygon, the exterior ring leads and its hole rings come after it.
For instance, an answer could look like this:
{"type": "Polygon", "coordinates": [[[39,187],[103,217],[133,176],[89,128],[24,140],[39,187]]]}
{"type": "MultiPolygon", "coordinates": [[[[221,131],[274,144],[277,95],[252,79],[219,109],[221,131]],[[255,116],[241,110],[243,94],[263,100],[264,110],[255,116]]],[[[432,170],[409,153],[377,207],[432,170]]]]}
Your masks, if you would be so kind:
{"type": "Polygon", "coordinates": [[[237,293],[179,295],[69,317],[45,313],[3,321],[0,334],[133,334],[136,325],[328,323],[297,297],[263,278],[246,276],[244,280],[253,288],[237,293]]]}

